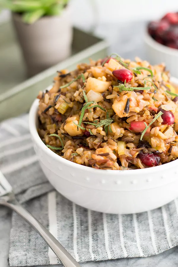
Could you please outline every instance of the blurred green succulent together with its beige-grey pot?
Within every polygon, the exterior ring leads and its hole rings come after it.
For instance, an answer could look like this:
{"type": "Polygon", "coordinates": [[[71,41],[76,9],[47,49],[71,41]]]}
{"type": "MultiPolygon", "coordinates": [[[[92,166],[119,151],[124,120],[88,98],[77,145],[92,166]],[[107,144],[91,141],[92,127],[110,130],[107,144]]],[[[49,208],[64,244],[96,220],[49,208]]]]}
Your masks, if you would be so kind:
{"type": "Polygon", "coordinates": [[[0,0],[12,11],[28,76],[67,58],[72,26],[69,0],[0,0]]]}

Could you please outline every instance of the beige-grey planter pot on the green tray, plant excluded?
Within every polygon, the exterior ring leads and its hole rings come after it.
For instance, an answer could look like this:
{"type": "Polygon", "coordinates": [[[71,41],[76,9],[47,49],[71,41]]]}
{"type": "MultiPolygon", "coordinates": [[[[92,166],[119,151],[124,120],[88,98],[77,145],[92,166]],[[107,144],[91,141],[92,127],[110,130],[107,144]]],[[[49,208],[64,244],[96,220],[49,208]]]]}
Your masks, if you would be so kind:
{"type": "Polygon", "coordinates": [[[71,10],[61,16],[44,16],[34,24],[26,24],[19,14],[12,21],[22,48],[28,76],[33,76],[67,58],[71,53],[71,10]]]}

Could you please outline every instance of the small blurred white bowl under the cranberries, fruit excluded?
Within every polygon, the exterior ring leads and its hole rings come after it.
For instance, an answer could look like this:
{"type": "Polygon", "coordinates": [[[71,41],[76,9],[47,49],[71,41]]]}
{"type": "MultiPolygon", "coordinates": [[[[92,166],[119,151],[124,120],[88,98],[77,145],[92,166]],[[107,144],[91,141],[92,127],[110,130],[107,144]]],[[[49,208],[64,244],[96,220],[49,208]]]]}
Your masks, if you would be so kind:
{"type": "Polygon", "coordinates": [[[148,61],[153,65],[165,63],[171,75],[178,78],[178,50],[156,42],[148,32],[145,33],[144,43],[148,61]]]}

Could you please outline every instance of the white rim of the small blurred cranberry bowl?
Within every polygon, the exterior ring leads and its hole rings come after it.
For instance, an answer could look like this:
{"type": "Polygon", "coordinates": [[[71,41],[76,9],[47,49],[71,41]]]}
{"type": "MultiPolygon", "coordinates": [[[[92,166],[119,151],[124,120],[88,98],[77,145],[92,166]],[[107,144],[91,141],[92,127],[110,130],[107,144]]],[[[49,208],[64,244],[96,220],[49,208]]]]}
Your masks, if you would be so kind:
{"type": "Polygon", "coordinates": [[[145,31],[144,34],[144,41],[150,45],[152,48],[159,50],[159,52],[178,56],[178,49],[168,47],[166,45],[162,45],[155,41],[155,39],[152,38],[152,36],[148,33],[148,31],[145,31]]]}

